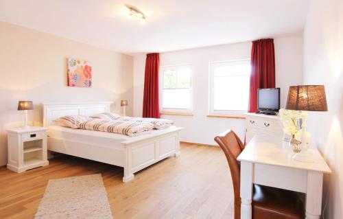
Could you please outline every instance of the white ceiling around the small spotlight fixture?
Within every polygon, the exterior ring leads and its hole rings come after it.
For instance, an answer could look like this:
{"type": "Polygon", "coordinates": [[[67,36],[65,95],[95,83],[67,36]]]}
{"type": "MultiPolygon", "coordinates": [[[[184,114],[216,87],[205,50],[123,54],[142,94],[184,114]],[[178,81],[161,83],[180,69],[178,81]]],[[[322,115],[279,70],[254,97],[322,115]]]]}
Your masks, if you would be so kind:
{"type": "Polygon", "coordinates": [[[0,21],[126,54],[301,32],[309,0],[0,0],[0,21]],[[129,20],[133,5],[147,22],[129,20]]]}

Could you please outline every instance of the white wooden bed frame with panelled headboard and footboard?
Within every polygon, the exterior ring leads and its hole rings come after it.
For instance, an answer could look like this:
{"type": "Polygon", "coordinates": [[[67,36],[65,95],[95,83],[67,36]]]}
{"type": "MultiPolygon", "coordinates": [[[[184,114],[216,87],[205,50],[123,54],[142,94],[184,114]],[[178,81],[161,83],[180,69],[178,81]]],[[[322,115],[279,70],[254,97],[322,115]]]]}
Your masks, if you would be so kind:
{"type": "MultiPolygon", "coordinates": [[[[89,116],[110,112],[110,104],[113,102],[44,103],[43,125],[52,126],[54,119],[64,115],[89,116]]],[[[171,155],[178,157],[180,130],[182,128],[177,127],[153,130],[151,133],[137,137],[113,133],[106,133],[106,137],[99,137],[99,133],[97,136],[82,136],[76,135],[78,134],[76,132],[85,130],[75,130],[73,137],[49,137],[48,135],[47,148],[50,151],[123,167],[123,182],[126,183],[134,178],[135,172],[171,155]]]]}

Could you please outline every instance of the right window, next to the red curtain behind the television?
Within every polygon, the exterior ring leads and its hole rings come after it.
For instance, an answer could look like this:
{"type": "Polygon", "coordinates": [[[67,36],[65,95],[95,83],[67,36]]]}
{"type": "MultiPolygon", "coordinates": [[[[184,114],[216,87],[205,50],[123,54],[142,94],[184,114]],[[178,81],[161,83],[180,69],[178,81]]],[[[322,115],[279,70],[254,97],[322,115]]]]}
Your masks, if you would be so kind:
{"type": "Polygon", "coordinates": [[[210,62],[210,113],[248,111],[250,60],[210,62]]]}

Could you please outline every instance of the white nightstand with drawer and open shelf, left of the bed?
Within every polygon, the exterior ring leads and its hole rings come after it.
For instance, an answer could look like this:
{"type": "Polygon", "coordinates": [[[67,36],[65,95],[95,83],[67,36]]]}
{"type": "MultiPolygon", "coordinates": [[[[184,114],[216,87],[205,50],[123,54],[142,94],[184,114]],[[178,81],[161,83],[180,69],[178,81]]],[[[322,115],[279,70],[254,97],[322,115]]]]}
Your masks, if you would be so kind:
{"type": "Polygon", "coordinates": [[[14,172],[24,172],[32,168],[48,165],[47,128],[11,128],[8,132],[7,168],[14,172]]]}

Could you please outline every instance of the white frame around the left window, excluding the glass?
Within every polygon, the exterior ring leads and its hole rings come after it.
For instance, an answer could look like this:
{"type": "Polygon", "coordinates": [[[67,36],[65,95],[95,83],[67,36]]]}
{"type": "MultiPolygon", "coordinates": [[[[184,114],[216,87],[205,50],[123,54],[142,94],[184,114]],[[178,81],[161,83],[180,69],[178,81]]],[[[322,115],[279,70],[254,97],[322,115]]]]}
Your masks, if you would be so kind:
{"type": "Polygon", "coordinates": [[[160,101],[160,113],[163,115],[193,115],[193,67],[189,64],[180,64],[180,65],[163,65],[160,66],[159,72],[158,72],[158,87],[159,87],[159,101],[160,101]],[[181,68],[189,68],[191,69],[191,87],[190,89],[190,108],[163,108],[163,87],[164,87],[164,71],[165,70],[171,70],[171,71],[177,71],[177,69],[181,68]]]}

